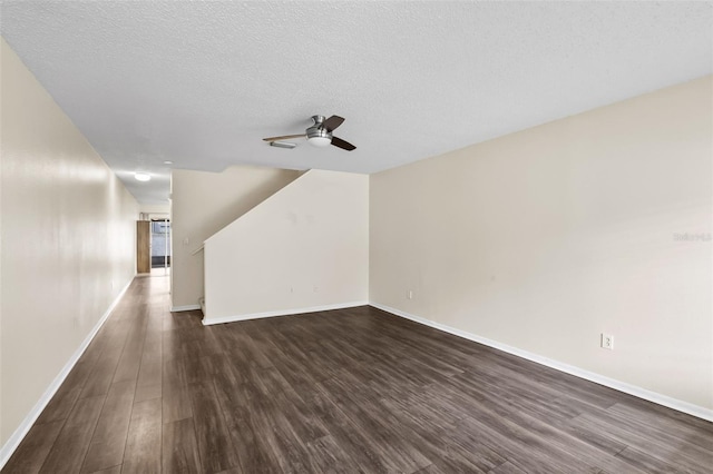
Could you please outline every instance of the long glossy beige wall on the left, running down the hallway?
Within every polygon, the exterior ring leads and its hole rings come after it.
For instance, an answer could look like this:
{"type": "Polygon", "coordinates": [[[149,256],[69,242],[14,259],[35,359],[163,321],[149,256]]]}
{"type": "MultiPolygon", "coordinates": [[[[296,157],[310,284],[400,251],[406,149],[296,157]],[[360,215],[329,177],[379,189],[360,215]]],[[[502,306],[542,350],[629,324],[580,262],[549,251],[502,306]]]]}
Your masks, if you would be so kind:
{"type": "Polygon", "coordinates": [[[134,277],[138,206],[1,43],[4,445],[134,277]]]}

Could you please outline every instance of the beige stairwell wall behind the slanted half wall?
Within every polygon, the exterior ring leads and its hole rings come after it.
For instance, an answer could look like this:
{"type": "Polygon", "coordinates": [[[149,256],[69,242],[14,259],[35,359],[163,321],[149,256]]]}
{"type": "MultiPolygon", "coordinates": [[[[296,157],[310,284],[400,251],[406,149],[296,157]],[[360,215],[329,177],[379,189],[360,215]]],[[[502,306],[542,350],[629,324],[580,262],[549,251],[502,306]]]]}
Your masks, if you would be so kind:
{"type": "Polygon", "coordinates": [[[174,170],[172,300],[196,307],[203,290],[203,241],[300,176],[300,171],[232,167],[223,172],[174,170]]]}

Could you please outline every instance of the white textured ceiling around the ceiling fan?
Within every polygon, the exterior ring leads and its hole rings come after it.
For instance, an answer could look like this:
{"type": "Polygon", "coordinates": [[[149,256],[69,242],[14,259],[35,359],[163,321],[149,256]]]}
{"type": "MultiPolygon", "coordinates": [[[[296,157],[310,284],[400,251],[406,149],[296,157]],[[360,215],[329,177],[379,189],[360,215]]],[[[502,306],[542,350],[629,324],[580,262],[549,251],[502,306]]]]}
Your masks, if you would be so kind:
{"type": "Polygon", "coordinates": [[[3,1],[1,14],[6,40],[147,204],[166,201],[170,167],[373,172],[713,62],[711,2],[3,1]],[[261,140],[315,113],[345,117],[335,135],[358,149],[261,140]]]}

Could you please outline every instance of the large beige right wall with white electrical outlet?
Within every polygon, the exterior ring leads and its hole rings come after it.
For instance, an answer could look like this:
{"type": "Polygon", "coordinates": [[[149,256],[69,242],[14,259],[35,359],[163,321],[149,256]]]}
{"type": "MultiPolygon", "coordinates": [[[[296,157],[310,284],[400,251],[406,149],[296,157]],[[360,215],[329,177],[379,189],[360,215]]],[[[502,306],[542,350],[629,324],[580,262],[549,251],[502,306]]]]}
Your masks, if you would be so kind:
{"type": "Polygon", "coordinates": [[[712,99],[707,77],[372,175],[371,300],[713,408],[712,244],[675,239],[710,238],[712,99]]]}

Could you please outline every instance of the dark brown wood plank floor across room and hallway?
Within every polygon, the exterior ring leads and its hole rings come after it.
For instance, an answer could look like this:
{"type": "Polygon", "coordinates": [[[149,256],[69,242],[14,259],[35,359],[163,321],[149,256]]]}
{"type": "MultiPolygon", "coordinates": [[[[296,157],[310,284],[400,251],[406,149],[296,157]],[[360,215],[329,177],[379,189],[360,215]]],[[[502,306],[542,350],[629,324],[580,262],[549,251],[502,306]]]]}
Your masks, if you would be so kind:
{"type": "Polygon", "coordinates": [[[136,278],[3,473],[711,473],[713,424],[378,309],[203,327],[136,278]]]}

